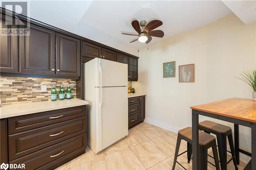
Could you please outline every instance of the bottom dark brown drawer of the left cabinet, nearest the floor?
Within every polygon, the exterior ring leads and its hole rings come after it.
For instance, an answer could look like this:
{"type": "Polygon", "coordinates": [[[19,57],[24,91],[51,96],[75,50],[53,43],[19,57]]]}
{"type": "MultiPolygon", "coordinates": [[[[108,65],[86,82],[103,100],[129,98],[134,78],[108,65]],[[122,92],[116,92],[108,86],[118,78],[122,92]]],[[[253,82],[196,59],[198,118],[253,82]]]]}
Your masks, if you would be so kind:
{"type": "Polygon", "coordinates": [[[72,158],[86,150],[86,133],[51,145],[32,154],[10,161],[24,163],[26,169],[52,169],[59,162],[72,158]]]}

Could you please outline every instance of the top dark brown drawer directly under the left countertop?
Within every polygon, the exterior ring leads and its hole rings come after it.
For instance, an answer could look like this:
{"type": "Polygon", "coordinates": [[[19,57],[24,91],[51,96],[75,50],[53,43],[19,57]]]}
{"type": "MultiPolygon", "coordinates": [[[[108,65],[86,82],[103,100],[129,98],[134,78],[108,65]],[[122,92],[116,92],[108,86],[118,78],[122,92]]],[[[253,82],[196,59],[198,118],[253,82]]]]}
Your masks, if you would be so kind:
{"type": "Polygon", "coordinates": [[[86,106],[77,106],[11,117],[8,118],[8,132],[9,134],[13,134],[82,116],[86,116],[86,106]]]}

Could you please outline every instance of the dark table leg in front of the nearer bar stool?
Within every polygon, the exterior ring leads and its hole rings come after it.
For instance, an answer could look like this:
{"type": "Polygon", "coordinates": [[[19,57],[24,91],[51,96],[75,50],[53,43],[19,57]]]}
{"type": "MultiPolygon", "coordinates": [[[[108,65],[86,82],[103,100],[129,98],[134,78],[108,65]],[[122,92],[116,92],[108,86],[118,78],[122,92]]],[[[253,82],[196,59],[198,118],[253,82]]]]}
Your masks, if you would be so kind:
{"type": "Polygon", "coordinates": [[[193,170],[199,169],[199,125],[198,114],[196,110],[192,110],[192,154],[193,154],[193,170]]]}

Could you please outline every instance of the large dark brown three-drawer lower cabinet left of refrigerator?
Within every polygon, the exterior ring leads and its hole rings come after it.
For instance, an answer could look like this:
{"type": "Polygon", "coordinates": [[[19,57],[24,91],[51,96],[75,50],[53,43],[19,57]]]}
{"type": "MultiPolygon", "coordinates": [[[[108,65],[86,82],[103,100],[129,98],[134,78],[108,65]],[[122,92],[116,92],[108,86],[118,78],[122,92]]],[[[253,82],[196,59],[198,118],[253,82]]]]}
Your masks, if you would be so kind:
{"type": "Polygon", "coordinates": [[[86,140],[86,106],[1,119],[1,162],[54,169],[85,153],[86,140]]]}

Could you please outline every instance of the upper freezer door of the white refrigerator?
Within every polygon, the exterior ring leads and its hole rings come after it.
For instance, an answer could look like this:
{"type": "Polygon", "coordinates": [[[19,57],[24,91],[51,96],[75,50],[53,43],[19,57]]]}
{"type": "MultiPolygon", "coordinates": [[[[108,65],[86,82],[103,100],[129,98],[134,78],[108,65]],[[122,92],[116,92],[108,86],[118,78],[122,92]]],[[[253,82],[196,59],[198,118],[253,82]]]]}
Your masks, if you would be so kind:
{"type": "Polygon", "coordinates": [[[127,64],[104,59],[94,59],[95,87],[127,86],[127,64]]]}

